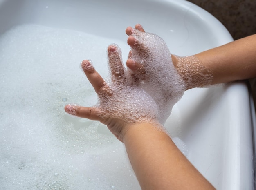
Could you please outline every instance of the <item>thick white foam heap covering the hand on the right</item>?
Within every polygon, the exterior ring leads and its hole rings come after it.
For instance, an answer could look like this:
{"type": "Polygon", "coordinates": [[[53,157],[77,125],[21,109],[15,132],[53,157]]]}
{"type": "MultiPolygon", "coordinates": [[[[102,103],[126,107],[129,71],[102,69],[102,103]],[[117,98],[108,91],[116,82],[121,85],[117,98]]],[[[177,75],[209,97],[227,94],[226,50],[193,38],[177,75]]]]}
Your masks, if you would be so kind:
{"type": "Polygon", "coordinates": [[[150,94],[157,104],[158,120],[164,124],[171,109],[185,91],[185,83],[175,69],[171,53],[159,36],[133,29],[135,45],[131,58],[141,63],[145,74],[138,75],[140,87],[150,94]]]}

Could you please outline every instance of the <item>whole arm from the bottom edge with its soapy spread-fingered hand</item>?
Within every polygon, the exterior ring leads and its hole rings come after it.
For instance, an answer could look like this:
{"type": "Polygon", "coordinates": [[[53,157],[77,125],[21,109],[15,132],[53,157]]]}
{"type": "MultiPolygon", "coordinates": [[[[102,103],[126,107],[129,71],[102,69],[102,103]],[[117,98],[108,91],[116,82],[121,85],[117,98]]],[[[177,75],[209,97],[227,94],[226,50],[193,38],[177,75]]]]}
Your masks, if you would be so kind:
{"type": "Polygon", "coordinates": [[[99,96],[99,104],[96,107],[66,105],[65,111],[75,116],[100,121],[124,142],[142,190],[214,189],[189,163],[164,132],[162,125],[155,120],[155,109],[149,110],[150,99],[145,99],[147,94],[142,91],[140,93],[143,93],[143,96],[138,97],[139,89],[136,85],[126,83],[118,47],[108,47],[108,57],[113,85],[108,85],[101,78],[90,61],[85,60],[82,63],[83,71],[99,96]],[[129,91],[125,91],[126,87],[129,87],[129,91]],[[136,96],[142,104],[137,104],[136,96]],[[118,105],[121,101],[122,104],[118,105]],[[132,103],[135,104],[131,106],[132,103]],[[139,105],[142,105],[144,110],[139,105]],[[120,110],[119,106],[128,110],[120,110]],[[140,112],[146,114],[141,114],[138,121],[133,114],[140,112]]]}

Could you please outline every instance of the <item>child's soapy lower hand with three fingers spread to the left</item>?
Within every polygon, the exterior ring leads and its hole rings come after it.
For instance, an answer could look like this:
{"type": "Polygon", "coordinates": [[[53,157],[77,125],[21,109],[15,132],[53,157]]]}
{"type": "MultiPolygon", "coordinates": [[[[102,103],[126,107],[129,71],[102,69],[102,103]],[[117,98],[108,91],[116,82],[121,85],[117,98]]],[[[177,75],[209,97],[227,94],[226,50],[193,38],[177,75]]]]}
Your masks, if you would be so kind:
{"type": "Polygon", "coordinates": [[[108,60],[111,72],[109,83],[96,72],[91,61],[84,60],[81,64],[99,96],[98,104],[94,107],[66,105],[65,111],[78,117],[100,121],[123,141],[130,124],[155,121],[157,106],[149,94],[139,88],[131,78],[126,77],[121,51],[117,45],[108,47],[108,60]]]}

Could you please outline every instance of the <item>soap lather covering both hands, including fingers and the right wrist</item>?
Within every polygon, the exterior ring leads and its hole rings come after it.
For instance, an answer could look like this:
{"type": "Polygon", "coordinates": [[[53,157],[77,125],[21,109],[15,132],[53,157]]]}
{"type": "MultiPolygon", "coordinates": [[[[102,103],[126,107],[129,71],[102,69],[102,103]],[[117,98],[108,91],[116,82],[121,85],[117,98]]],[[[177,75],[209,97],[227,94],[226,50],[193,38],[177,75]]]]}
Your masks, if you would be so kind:
{"type": "MultiPolygon", "coordinates": [[[[85,60],[81,64],[99,97],[93,109],[86,108],[85,118],[90,118],[90,113],[93,112],[97,115],[96,118],[108,127],[110,125],[106,120],[110,118],[126,123],[154,120],[164,125],[173,105],[180,100],[188,86],[195,87],[196,80],[193,73],[200,78],[206,78],[207,83],[210,83],[211,72],[194,56],[186,58],[174,56],[174,65],[167,45],[155,34],[138,29],[130,29],[127,34],[129,38],[131,36],[133,38],[133,43],[128,42],[131,46],[129,59],[137,65],[139,63],[137,71],[124,68],[121,49],[115,44],[108,47],[110,76],[107,82],[99,74],[97,78],[92,77],[97,74],[92,61],[85,60]],[[193,71],[192,75],[186,74],[190,72],[189,70],[193,71]],[[97,82],[99,84],[94,81],[98,79],[100,79],[100,82],[97,82]]],[[[77,115],[80,107],[68,105],[65,110],[77,115]]]]}

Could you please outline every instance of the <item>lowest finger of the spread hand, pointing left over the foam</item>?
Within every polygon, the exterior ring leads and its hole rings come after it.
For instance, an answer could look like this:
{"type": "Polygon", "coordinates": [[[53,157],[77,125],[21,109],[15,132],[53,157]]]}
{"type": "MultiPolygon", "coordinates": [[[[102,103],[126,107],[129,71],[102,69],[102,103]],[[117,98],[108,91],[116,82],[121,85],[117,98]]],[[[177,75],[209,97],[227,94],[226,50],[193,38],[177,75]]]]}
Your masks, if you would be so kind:
{"type": "MultiPolygon", "coordinates": [[[[102,120],[101,117],[97,116],[95,107],[82,107],[79,105],[69,104],[65,106],[65,112],[73,116],[81,118],[87,118],[90,120],[102,120]]],[[[98,108],[97,108],[98,109],[98,108]]]]}

